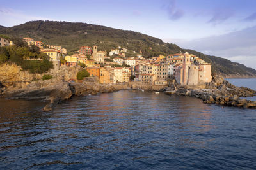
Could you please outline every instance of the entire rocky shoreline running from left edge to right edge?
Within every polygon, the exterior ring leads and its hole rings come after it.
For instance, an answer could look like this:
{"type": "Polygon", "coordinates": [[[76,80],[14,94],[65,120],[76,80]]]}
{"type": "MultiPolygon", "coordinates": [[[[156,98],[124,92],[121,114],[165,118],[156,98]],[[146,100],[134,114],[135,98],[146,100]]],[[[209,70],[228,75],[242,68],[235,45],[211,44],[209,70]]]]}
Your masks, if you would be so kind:
{"type": "Polygon", "coordinates": [[[220,104],[223,106],[236,106],[243,108],[256,108],[256,101],[242,99],[241,97],[256,96],[256,91],[247,87],[236,87],[230,84],[223,76],[214,76],[211,83],[201,86],[177,85],[172,81],[168,87],[139,85],[132,82],[124,85],[102,85],[95,82],[73,82],[45,80],[36,81],[22,89],[1,89],[0,96],[8,99],[44,99],[49,103],[43,108],[51,111],[54,105],[69,99],[72,96],[86,96],[89,94],[115,92],[121,89],[141,89],[165,92],[169,95],[191,96],[202,99],[207,104],[220,104]]]}

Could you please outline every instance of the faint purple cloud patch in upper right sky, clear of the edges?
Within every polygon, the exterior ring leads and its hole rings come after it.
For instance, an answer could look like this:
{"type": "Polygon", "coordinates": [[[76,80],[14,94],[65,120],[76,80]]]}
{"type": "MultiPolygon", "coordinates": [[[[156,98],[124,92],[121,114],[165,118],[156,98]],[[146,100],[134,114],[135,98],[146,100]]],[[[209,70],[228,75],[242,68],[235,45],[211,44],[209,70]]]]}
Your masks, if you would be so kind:
{"type": "Polygon", "coordinates": [[[232,10],[216,9],[214,11],[212,18],[208,21],[208,23],[212,23],[214,25],[220,24],[221,22],[224,22],[225,20],[232,17],[233,15],[234,15],[234,11],[232,10]]]}

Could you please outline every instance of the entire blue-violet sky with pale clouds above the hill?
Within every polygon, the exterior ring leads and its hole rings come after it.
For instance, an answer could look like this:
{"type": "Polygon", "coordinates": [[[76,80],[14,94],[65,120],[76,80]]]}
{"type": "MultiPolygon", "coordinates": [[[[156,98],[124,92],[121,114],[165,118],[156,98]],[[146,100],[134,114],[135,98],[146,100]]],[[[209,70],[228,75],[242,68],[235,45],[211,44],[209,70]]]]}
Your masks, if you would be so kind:
{"type": "Polygon", "coordinates": [[[256,69],[256,0],[0,0],[0,25],[85,22],[132,30],[256,69]]]}

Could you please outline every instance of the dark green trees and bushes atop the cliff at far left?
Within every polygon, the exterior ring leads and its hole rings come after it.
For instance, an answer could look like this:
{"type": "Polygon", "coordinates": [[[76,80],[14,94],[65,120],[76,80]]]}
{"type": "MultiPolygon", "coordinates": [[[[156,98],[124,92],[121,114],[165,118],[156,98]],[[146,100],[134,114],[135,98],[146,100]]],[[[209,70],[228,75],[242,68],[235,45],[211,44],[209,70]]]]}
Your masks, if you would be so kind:
{"type": "Polygon", "coordinates": [[[0,47],[0,64],[4,62],[17,64],[31,73],[45,73],[52,68],[46,54],[17,45],[0,47]]]}

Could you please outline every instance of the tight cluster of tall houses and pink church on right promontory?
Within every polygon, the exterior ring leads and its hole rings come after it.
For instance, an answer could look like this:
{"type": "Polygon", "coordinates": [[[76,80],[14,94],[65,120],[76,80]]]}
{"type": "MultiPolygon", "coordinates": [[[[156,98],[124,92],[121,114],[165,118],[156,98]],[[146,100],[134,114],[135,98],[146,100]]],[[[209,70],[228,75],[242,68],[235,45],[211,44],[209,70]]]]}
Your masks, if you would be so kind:
{"type": "Polygon", "coordinates": [[[181,85],[211,81],[211,64],[188,52],[143,60],[134,70],[135,81],[148,85],[167,85],[172,79],[181,85]]]}

